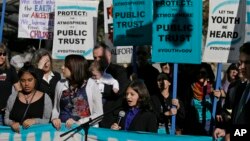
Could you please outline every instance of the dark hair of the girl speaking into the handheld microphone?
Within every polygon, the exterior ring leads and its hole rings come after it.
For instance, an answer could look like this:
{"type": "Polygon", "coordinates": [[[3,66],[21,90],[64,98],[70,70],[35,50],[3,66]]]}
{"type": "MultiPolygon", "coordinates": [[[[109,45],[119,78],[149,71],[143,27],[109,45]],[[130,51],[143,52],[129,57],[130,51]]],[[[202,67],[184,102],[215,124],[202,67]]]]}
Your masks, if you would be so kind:
{"type": "Polygon", "coordinates": [[[142,110],[152,110],[151,99],[148,92],[148,89],[143,82],[143,80],[136,79],[128,85],[128,87],[132,88],[139,95],[138,99],[138,107],[142,110]]]}

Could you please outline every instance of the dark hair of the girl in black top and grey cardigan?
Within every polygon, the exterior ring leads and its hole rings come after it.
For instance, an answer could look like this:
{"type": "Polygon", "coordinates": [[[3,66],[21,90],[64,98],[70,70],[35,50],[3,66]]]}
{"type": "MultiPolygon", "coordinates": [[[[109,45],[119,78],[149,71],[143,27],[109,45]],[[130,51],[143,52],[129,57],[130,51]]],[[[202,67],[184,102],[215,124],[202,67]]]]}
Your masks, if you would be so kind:
{"type": "Polygon", "coordinates": [[[35,85],[35,89],[37,89],[37,87],[39,86],[38,84],[38,76],[37,76],[37,69],[31,64],[31,62],[25,62],[23,67],[21,69],[19,69],[17,75],[19,77],[19,79],[23,76],[24,73],[30,73],[36,80],[36,85],[35,85]]]}

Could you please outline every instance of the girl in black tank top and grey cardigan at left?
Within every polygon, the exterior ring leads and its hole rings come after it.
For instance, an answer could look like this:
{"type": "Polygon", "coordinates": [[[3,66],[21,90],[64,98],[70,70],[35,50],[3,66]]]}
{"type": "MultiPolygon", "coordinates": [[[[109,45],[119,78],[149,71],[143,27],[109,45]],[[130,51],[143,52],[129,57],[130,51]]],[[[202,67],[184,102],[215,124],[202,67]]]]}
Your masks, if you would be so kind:
{"type": "Polygon", "coordinates": [[[25,64],[18,72],[22,91],[13,93],[8,99],[5,124],[15,132],[20,132],[20,125],[28,128],[33,124],[48,123],[52,111],[49,96],[36,89],[35,69],[25,64]]]}

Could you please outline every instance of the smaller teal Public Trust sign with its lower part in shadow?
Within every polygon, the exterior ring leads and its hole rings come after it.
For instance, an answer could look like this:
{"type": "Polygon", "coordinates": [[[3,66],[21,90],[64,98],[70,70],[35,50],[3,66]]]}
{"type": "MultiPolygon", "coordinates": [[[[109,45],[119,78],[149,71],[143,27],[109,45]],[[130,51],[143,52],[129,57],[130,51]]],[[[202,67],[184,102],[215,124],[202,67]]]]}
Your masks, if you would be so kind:
{"type": "Polygon", "coordinates": [[[113,0],[114,45],[151,45],[152,0],[113,0]]]}

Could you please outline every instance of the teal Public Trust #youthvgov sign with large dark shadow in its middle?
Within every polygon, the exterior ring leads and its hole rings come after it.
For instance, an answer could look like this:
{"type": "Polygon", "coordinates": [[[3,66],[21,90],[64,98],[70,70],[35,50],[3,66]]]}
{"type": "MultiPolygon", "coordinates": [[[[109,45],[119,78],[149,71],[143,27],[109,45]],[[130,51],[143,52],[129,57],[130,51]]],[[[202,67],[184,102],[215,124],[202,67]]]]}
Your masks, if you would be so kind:
{"type": "Polygon", "coordinates": [[[201,62],[202,0],[154,0],[153,62],[201,62]]]}

